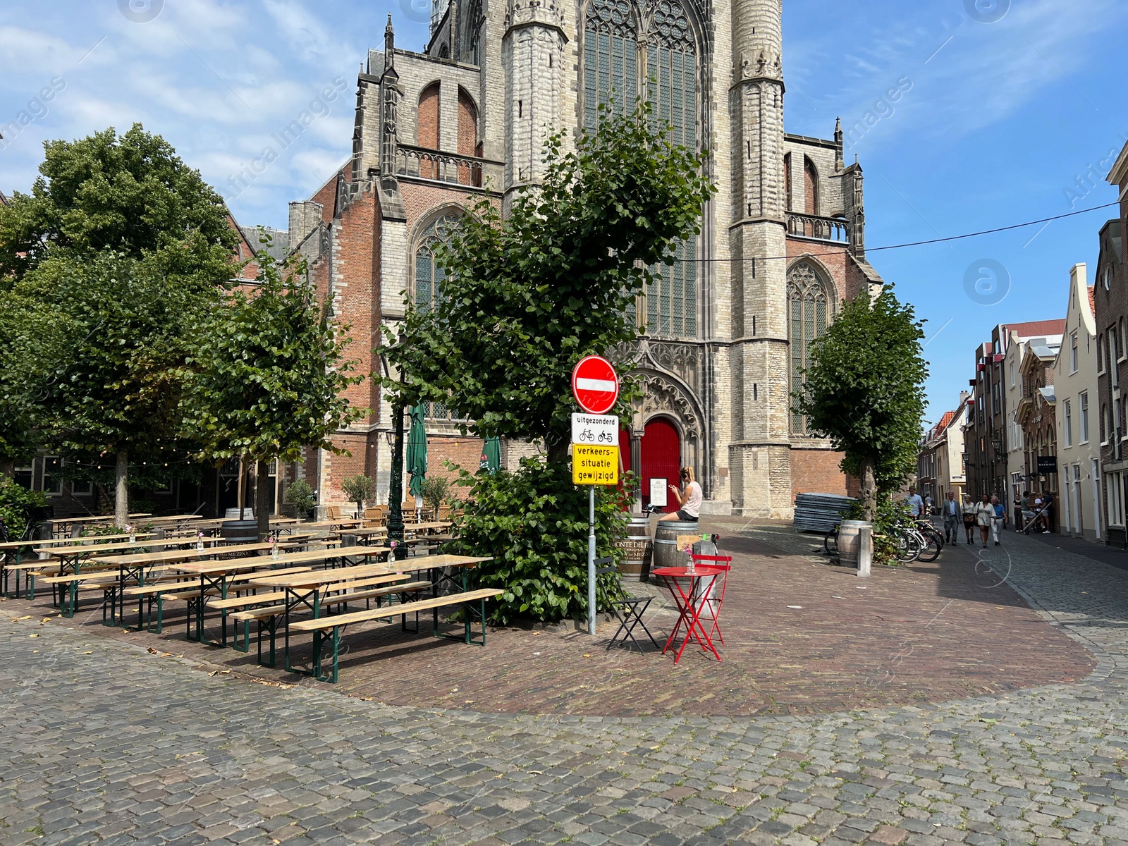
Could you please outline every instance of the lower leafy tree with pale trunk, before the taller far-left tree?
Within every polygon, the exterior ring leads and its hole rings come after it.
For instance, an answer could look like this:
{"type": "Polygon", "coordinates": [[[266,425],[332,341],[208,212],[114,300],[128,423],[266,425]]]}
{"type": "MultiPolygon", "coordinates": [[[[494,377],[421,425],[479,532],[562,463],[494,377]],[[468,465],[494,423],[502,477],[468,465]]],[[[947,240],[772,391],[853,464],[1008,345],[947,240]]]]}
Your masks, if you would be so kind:
{"type": "Polygon", "coordinates": [[[118,526],[127,522],[131,460],[168,460],[188,337],[220,301],[213,277],[180,275],[168,258],[65,253],[15,288],[63,338],[42,372],[45,434],[63,452],[114,466],[118,526]]]}

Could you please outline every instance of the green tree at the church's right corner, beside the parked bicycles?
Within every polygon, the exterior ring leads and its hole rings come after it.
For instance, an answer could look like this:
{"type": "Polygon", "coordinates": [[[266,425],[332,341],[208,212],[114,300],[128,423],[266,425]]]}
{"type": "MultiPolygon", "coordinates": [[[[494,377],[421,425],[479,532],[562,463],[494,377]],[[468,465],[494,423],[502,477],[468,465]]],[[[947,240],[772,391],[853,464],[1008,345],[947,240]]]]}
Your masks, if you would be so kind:
{"type": "Polygon", "coordinates": [[[845,452],[841,468],[862,482],[862,508],[872,520],[878,494],[899,487],[916,466],[928,369],[923,323],[887,284],[860,294],[810,347],[794,411],[812,432],[845,452]]]}

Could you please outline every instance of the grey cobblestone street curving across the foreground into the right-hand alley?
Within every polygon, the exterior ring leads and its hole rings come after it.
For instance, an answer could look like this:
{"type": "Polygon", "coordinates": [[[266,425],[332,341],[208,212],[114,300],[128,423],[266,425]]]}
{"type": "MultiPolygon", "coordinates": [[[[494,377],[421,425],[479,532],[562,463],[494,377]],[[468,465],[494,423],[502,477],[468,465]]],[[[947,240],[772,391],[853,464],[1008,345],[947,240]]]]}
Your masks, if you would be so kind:
{"type": "Polygon", "coordinates": [[[0,843],[1128,844],[1128,576],[1003,549],[1091,675],[823,715],[405,708],[6,614],[0,843]]]}

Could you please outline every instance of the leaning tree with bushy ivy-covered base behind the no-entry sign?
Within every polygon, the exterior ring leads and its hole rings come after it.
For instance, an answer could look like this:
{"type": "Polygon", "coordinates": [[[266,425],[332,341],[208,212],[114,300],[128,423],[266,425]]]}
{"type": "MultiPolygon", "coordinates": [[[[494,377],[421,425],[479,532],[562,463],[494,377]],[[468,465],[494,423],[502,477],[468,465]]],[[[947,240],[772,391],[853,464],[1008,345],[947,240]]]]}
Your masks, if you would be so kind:
{"type": "MultiPolygon", "coordinates": [[[[482,202],[462,218],[437,250],[446,275],[433,306],[408,303],[405,341],[387,352],[403,384],[384,387],[405,405],[457,408],[479,438],[547,446],[545,464],[462,477],[469,501],[453,548],[492,557],[474,579],[504,589],[495,619],[584,613],[588,494],[567,466],[572,369],[589,353],[614,360],[637,338],[636,297],[699,232],[714,191],[704,165],[658,130],[645,104],[603,109],[574,151],[562,135],[548,140],[543,183],[513,197],[506,215],[482,202]]],[[[617,494],[599,493],[601,555],[616,554],[610,540],[625,532],[617,494]]]]}

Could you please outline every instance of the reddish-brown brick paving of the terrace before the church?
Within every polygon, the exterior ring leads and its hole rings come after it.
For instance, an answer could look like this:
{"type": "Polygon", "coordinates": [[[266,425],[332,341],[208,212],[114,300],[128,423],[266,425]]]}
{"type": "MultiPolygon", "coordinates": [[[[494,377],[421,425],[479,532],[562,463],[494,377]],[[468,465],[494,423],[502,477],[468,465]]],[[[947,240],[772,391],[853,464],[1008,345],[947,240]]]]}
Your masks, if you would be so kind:
{"type": "MultiPolygon", "coordinates": [[[[863,707],[920,705],[1077,681],[1095,662],[1051,627],[967,547],[945,549],[933,564],[878,567],[869,580],[829,566],[822,538],[791,527],[717,525],[734,570],[724,610],[723,661],[687,649],[677,667],[646,644],[646,654],[605,646],[617,626],[592,642],[564,629],[491,629],[486,647],[431,637],[430,619],[416,636],[398,622],[351,626],[337,693],[390,705],[485,712],[592,716],[751,716],[813,714],[863,707]],[[812,550],[818,550],[812,555],[812,550]],[[403,679],[411,678],[411,685],[403,679]]],[[[677,620],[669,593],[650,592],[645,615],[659,643],[677,620]]],[[[99,597],[100,598],[100,597],[99,597]]],[[[183,654],[218,669],[296,684],[300,677],[257,666],[252,654],[209,649],[184,637],[184,603],[161,636],[100,625],[88,600],[69,625],[117,642],[183,654]]],[[[54,615],[49,594],[34,603],[5,602],[10,616],[54,615]],[[14,610],[23,608],[23,610],[14,610]]],[[[213,637],[219,636],[214,628],[213,637]]],[[[310,637],[297,642],[297,660],[310,637]]]]}

